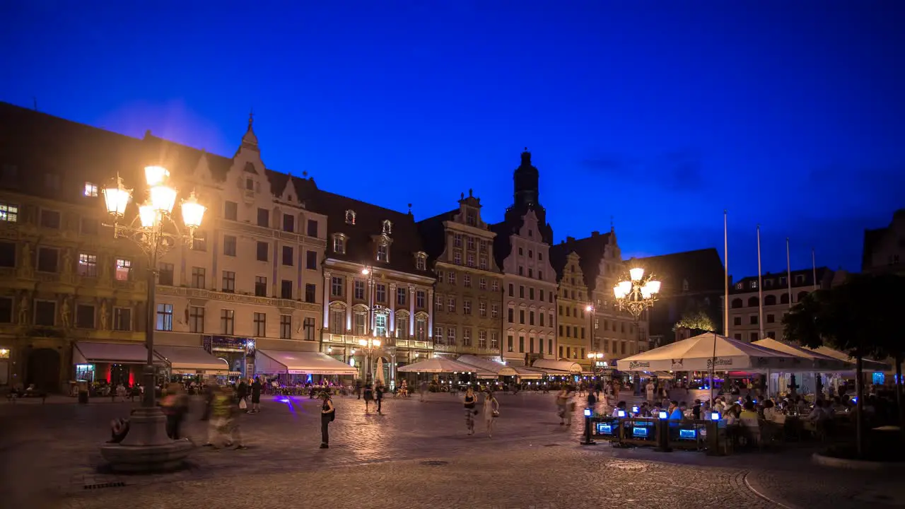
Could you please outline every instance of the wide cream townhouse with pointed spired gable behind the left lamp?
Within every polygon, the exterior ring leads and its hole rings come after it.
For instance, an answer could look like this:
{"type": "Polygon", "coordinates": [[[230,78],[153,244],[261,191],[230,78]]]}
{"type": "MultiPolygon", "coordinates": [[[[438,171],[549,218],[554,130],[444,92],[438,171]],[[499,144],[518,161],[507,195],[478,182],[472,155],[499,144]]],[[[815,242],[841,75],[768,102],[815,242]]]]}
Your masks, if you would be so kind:
{"type": "Polygon", "coordinates": [[[195,243],[158,265],[156,341],[204,346],[246,376],[258,350],[319,351],[327,217],[310,209],[313,182],[265,168],[251,119],[233,158],[144,143],[208,207],[195,243]]]}

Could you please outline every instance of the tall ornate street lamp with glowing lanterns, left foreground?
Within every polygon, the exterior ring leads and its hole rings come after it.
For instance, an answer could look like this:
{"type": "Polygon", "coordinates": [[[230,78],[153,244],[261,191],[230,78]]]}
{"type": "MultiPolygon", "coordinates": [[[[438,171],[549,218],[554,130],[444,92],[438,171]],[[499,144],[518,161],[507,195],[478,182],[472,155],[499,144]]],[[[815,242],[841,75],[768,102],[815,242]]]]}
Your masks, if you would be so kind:
{"type": "Polygon", "coordinates": [[[110,464],[122,471],[147,471],[178,466],[191,450],[191,443],[173,441],[167,437],[167,419],[156,405],[154,367],[154,329],[157,286],[157,260],[174,248],[178,241],[191,243],[195,230],[201,226],[205,206],[198,203],[195,193],[181,204],[180,227],[172,212],[178,191],[169,182],[169,171],[159,166],[145,168],[148,200],[138,206],[138,215],[124,221],[126,208],[132,200],[132,189],[123,185],[119,176],[103,189],[104,205],[113,219],[113,235],[138,245],[148,261],[147,324],[145,346],[148,362],[144,368],[145,393],[138,408],[129,418],[129,434],[119,444],[101,447],[101,454],[110,464]]]}

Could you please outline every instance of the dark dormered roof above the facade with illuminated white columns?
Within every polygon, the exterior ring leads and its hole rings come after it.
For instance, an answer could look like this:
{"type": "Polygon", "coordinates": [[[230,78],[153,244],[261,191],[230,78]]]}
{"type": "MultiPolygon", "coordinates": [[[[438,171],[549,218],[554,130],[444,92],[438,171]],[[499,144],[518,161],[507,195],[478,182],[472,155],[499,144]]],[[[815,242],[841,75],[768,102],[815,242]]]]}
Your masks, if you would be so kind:
{"type": "Polygon", "coordinates": [[[357,199],[342,197],[328,191],[319,190],[309,206],[315,212],[327,216],[327,234],[343,234],[348,237],[346,254],[333,253],[332,242],[328,243],[329,258],[347,260],[357,264],[374,265],[406,272],[429,275],[428,271],[415,269],[414,254],[424,251],[414,216],[382,206],[371,205],[357,199]],[[355,225],[346,224],[346,211],[355,212],[355,225]],[[380,235],[383,223],[389,220],[393,242],[390,244],[390,261],[382,264],[376,261],[376,245],[373,236],[380,235]]]}

